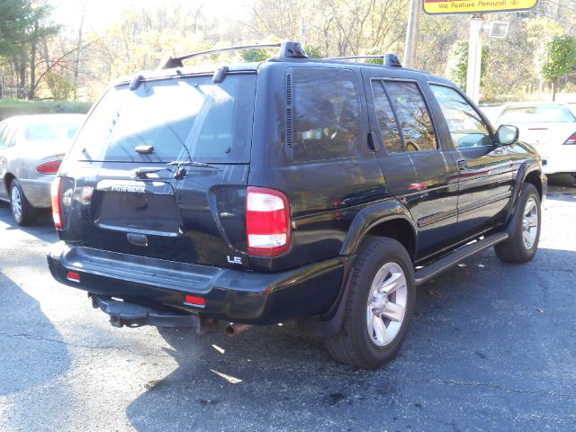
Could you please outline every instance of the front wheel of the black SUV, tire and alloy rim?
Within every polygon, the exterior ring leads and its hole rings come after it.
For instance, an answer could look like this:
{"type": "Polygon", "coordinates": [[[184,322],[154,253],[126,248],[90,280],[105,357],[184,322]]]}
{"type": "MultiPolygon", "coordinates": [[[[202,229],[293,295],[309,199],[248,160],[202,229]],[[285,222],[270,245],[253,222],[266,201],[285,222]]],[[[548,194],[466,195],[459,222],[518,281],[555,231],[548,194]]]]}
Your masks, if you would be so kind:
{"type": "Polygon", "coordinates": [[[527,263],[536,255],[540,240],[542,211],[540,195],[534,184],[524,184],[514,217],[510,221],[511,235],[496,245],[496,255],[505,263],[527,263]]]}

